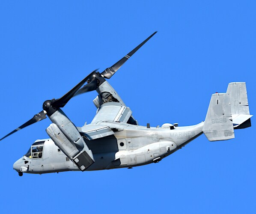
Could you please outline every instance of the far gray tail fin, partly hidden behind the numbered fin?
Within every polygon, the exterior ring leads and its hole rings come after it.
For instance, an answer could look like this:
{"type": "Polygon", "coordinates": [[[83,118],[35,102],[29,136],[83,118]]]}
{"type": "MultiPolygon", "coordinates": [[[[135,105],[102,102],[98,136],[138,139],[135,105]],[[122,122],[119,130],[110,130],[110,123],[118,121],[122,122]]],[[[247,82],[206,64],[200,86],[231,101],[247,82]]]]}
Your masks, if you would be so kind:
{"type": "Polygon", "coordinates": [[[249,104],[245,82],[229,83],[226,91],[229,94],[232,121],[235,129],[251,126],[249,104]]]}

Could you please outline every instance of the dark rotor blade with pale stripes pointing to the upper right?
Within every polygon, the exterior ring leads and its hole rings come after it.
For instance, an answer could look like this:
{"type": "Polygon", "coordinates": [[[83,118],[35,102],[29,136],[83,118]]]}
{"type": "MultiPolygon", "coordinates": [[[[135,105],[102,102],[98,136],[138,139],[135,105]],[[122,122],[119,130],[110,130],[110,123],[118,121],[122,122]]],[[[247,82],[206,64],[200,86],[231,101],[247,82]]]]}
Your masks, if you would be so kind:
{"type": "Polygon", "coordinates": [[[113,74],[136,52],[140,49],[142,45],[144,45],[148,40],[154,36],[157,33],[153,33],[151,36],[149,36],[144,42],[140,43],[136,48],[134,48],[130,53],[125,55],[122,59],[120,59],[116,64],[112,65],[110,68],[107,68],[105,71],[101,73],[105,78],[109,79],[113,76],[113,74]]]}

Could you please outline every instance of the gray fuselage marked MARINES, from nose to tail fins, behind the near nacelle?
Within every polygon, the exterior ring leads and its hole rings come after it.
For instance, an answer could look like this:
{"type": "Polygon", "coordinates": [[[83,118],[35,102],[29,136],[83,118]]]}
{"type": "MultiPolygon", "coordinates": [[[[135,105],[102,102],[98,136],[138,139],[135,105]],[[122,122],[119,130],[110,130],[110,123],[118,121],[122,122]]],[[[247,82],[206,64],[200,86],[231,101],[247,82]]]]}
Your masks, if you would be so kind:
{"type": "MultiPolygon", "coordinates": [[[[111,122],[111,125],[109,122],[102,122],[101,125],[113,126],[113,123],[116,122],[111,122]]],[[[116,126],[121,131],[116,131],[113,135],[95,140],[84,137],[95,159],[95,163],[86,171],[157,163],[201,135],[203,122],[185,127],[173,126],[172,130],[168,124],[161,128],[147,128],[118,122],[116,126]]],[[[83,136],[82,132],[80,134],[83,136]]],[[[80,171],[51,139],[36,140],[30,152],[17,160],[13,168],[18,172],[36,174],[80,171]],[[40,146],[42,151],[37,151],[36,148],[40,146]]]]}

